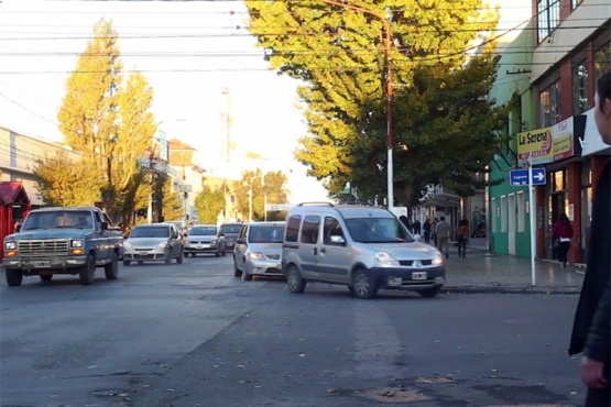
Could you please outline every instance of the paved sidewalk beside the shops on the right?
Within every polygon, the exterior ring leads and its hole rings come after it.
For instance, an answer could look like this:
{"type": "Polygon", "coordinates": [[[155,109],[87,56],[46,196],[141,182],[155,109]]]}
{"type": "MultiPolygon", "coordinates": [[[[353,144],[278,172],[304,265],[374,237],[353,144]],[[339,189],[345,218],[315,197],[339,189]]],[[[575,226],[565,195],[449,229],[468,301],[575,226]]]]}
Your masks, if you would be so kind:
{"type": "Polygon", "coordinates": [[[569,265],[563,271],[558,262],[535,260],[533,286],[530,257],[490,253],[484,239],[471,239],[465,258],[450,246],[446,277],[446,293],[579,294],[583,268],[569,265]]]}

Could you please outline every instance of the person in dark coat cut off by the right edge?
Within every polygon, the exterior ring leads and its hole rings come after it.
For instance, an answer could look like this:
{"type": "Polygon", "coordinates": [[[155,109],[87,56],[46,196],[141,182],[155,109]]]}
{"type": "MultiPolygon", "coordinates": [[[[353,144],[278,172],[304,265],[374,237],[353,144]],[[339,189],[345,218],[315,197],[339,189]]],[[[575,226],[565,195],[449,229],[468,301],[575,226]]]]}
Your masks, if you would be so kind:
{"type": "MultiPolygon", "coordinates": [[[[597,82],[594,122],[602,141],[611,145],[611,69],[597,82]]],[[[581,382],[588,387],[586,407],[611,405],[611,164],[600,175],[592,199],[588,264],[575,312],[569,355],[583,353],[581,382]]]]}

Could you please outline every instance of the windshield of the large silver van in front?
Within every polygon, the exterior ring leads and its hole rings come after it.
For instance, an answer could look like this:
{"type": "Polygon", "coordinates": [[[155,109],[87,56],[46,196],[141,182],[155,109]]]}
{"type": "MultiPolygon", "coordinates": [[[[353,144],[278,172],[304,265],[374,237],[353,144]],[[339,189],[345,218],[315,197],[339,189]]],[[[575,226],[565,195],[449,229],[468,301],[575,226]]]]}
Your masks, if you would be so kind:
{"type": "Polygon", "coordinates": [[[346,219],[352,240],[361,243],[414,242],[414,237],[396,218],[346,219]]]}

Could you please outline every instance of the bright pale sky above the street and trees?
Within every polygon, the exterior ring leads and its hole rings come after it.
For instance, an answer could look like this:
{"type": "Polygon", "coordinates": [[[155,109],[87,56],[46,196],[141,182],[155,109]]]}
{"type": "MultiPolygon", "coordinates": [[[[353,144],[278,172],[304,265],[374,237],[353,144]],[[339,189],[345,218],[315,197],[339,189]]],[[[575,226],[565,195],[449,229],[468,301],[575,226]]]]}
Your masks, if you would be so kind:
{"type": "MultiPolygon", "coordinates": [[[[530,15],[531,0],[502,2],[501,28],[530,15]]],[[[240,0],[0,0],[0,127],[63,141],[56,117],[66,79],[102,18],[119,34],[126,74],[140,70],[152,86],[159,129],[196,148],[210,175],[282,170],[291,202],[326,199],[293,157],[307,134],[298,82],[269,69],[240,0]]]]}

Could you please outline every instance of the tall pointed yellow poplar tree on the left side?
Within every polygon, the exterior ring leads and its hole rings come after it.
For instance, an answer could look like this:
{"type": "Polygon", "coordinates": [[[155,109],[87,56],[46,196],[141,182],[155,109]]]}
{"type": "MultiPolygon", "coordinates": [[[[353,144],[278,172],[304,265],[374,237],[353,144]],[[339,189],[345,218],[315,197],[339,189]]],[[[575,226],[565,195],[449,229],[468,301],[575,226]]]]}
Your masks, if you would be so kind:
{"type": "Polygon", "coordinates": [[[118,34],[102,19],[66,81],[57,119],[66,143],[103,174],[101,195],[109,215],[129,219],[134,208],[146,205],[139,190],[149,168],[142,168],[139,158],[152,147],[156,125],[150,112],[153,90],[145,78],[131,74],[123,87],[121,70],[118,34]]]}

